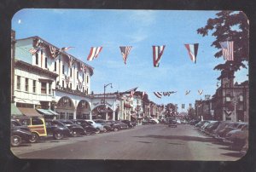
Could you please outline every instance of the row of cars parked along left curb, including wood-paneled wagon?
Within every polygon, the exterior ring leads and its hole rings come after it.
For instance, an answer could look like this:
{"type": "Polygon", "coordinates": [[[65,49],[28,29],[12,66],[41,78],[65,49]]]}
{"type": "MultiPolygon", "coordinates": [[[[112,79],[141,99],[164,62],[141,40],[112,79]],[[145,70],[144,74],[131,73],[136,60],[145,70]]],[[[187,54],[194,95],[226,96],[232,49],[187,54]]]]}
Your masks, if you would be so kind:
{"type": "Polygon", "coordinates": [[[11,146],[20,146],[22,142],[37,142],[44,137],[61,140],[64,137],[94,135],[119,129],[131,129],[136,123],[129,120],[87,120],[87,119],[44,119],[22,117],[11,119],[11,146]]]}

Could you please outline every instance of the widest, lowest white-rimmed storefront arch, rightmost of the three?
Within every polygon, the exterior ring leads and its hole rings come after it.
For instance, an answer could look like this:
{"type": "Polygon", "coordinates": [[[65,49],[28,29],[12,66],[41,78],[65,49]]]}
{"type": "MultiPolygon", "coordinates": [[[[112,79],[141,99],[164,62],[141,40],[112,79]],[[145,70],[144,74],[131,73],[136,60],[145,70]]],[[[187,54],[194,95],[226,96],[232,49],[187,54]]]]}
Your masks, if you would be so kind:
{"type": "Polygon", "coordinates": [[[107,120],[113,119],[113,110],[110,107],[104,106],[104,105],[96,106],[92,110],[91,114],[92,114],[92,119],[107,119],[107,120]]]}

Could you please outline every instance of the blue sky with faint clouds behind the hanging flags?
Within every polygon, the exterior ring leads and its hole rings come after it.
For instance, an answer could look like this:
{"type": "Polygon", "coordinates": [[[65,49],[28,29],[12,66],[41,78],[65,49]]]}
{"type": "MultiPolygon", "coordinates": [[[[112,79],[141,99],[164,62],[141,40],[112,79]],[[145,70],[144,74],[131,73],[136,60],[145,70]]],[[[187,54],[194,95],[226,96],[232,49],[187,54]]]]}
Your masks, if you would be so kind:
{"type": "MultiPolygon", "coordinates": [[[[215,37],[202,37],[196,30],[206,26],[218,11],[123,10],[123,9],[22,9],[12,19],[16,39],[38,36],[58,48],[74,47],[67,53],[94,68],[90,89],[103,93],[138,87],[156,104],[194,106],[204,95],[214,95],[220,72],[214,66],[224,63],[214,58],[215,37]],[[199,43],[196,64],[189,59],[185,43],[199,43]],[[166,45],[160,66],[153,66],[153,45],[166,45]],[[102,46],[88,61],[90,47],[102,46]],[[119,46],[132,46],[123,61],[119,46]],[[198,90],[203,89],[199,95],[198,90]],[[189,95],[185,91],[190,90],[189,95]],[[177,91],[157,98],[154,92],[177,91]]],[[[236,58],[236,57],[235,57],[236,58]]],[[[235,82],[247,80],[248,69],[236,72],[235,82]]]]}

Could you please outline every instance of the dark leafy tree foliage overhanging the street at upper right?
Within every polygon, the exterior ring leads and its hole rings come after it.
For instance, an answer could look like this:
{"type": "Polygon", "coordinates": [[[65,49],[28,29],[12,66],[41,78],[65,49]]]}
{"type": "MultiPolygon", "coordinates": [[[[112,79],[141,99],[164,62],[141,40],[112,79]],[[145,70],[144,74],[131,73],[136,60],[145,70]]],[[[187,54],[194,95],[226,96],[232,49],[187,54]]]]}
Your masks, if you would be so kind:
{"type": "Polygon", "coordinates": [[[219,42],[234,41],[234,60],[214,67],[214,70],[221,71],[218,77],[220,80],[223,77],[234,77],[234,73],[241,67],[247,68],[244,61],[249,58],[249,22],[246,14],[241,11],[221,11],[216,15],[217,18],[207,20],[207,26],[199,28],[197,33],[205,37],[212,31],[212,36],[216,37],[212,46],[220,49],[214,54],[215,58],[222,56],[219,42]]]}

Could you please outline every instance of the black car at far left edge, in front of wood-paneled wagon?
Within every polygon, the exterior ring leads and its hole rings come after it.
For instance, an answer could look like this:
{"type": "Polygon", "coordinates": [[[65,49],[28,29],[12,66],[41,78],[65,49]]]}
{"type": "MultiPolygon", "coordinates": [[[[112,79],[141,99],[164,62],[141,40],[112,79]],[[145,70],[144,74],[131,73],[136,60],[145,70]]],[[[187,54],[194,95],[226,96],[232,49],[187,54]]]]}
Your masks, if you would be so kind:
{"type": "Polygon", "coordinates": [[[32,132],[24,125],[21,125],[15,119],[11,119],[11,146],[20,146],[23,141],[29,142],[32,138],[32,132]]]}

